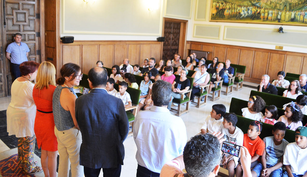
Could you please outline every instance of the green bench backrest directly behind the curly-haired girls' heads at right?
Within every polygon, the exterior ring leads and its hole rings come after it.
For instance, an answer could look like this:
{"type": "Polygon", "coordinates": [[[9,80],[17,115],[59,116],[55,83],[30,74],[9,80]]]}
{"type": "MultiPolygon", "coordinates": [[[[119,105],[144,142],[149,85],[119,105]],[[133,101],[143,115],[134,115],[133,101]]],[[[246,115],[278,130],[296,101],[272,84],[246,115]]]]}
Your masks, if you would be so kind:
{"type": "Polygon", "coordinates": [[[266,102],[266,105],[275,105],[277,108],[282,108],[283,105],[290,103],[291,101],[296,102],[295,99],[251,90],[250,96],[256,96],[256,95],[260,96],[266,102]]]}

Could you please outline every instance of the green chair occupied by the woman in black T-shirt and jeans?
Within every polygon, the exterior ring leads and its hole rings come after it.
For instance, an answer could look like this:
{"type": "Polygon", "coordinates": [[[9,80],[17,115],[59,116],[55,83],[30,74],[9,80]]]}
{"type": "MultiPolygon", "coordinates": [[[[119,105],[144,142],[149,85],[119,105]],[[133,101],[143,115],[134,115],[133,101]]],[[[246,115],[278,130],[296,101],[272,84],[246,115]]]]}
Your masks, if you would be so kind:
{"type": "Polygon", "coordinates": [[[173,103],[177,103],[178,104],[178,108],[171,108],[171,110],[177,111],[176,116],[180,116],[181,114],[187,113],[189,112],[189,101],[190,101],[190,96],[191,96],[191,91],[192,91],[192,85],[193,85],[193,80],[194,78],[192,77],[187,77],[190,80],[191,86],[190,89],[186,92],[181,93],[181,98],[174,98],[173,99],[173,103]],[[185,98],[183,98],[183,94],[187,93],[187,96],[185,98]],[[186,103],[186,107],[185,110],[181,110],[181,105],[186,103]]]}

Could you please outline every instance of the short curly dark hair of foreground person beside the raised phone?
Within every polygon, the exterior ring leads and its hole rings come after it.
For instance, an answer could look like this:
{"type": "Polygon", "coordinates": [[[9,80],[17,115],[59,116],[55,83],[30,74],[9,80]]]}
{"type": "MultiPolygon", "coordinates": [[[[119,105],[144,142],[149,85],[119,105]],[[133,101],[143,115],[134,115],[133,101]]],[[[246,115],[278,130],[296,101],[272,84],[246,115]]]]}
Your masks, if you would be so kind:
{"type": "Polygon", "coordinates": [[[192,137],[183,150],[183,162],[189,176],[208,176],[220,164],[220,149],[219,140],[209,133],[192,137]]]}

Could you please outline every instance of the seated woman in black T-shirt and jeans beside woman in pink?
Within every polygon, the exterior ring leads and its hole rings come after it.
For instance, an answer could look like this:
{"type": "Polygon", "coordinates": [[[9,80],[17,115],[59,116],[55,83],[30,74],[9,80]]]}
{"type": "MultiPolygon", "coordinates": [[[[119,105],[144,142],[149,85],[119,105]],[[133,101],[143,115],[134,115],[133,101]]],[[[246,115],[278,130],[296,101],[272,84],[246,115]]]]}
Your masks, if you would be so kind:
{"type": "MultiPolygon", "coordinates": [[[[190,80],[187,78],[187,74],[188,74],[188,70],[187,69],[183,69],[180,73],[180,78],[176,78],[172,84],[172,99],[169,102],[169,105],[167,106],[167,108],[170,110],[172,103],[173,103],[173,99],[174,98],[181,98],[181,93],[182,92],[186,92],[189,90],[191,83],[190,80]]],[[[183,95],[183,98],[186,97],[186,94],[183,95]]]]}

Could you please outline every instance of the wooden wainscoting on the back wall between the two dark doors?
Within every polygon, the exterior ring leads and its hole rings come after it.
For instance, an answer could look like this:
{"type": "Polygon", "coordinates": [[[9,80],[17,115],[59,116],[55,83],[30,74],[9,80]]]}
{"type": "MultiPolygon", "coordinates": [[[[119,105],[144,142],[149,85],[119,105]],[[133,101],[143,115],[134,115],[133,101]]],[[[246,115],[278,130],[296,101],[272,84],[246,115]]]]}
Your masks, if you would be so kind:
{"type": "MultiPolygon", "coordinates": [[[[80,65],[83,73],[96,66],[98,60],[103,66],[120,65],[128,58],[131,65],[142,64],[146,58],[161,59],[162,42],[157,41],[74,41],[71,44],[60,44],[60,66],[65,63],[80,65]]],[[[59,76],[59,75],[58,75],[59,76]]]]}

